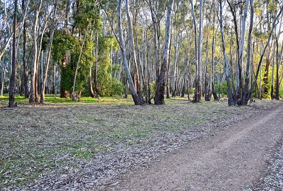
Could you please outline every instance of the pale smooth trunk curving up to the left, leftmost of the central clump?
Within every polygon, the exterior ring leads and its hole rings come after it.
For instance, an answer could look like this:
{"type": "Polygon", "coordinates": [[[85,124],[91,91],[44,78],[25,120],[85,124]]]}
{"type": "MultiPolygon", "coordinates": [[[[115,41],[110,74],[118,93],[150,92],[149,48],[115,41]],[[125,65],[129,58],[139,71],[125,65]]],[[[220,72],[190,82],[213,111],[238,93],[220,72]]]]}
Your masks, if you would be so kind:
{"type": "Polygon", "coordinates": [[[128,83],[129,83],[129,87],[131,89],[131,93],[132,93],[132,99],[135,105],[142,105],[145,104],[144,99],[141,99],[134,87],[133,81],[132,81],[132,76],[130,73],[130,69],[128,66],[128,60],[127,60],[127,56],[126,56],[126,48],[125,48],[125,41],[124,41],[124,37],[123,37],[123,31],[122,31],[122,23],[121,23],[121,0],[118,0],[117,2],[117,16],[118,16],[118,30],[119,30],[119,38],[120,38],[120,48],[121,48],[121,52],[122,52],[122,59],[123,59],[123,63],[124,63],[124,68],[125,68],[125,73],[128,79],[128,83]]]}

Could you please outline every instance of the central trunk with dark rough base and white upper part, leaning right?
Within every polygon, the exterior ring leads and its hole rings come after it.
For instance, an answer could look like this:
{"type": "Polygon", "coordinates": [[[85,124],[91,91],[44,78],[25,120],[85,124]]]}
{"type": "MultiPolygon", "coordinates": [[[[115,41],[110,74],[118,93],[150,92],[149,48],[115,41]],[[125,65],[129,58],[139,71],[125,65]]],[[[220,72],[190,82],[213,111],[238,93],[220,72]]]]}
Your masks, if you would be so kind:
{"type": "Polygon", "coordinates": [[[169,65],[169,47],[170,47],[170,38],[171,38],[171,19],[172,19],[172,8],[174,0],[170,0],[167,10],[166,18],[166,30],[165,30],[165,41],[164,41],[164,54],[163,61],[161,64],[160,74],[156,76],[156,90],[154,97],[154,104],[165,104],[164,101],[164,92],[165,92],[165,83],[169,65]]]}

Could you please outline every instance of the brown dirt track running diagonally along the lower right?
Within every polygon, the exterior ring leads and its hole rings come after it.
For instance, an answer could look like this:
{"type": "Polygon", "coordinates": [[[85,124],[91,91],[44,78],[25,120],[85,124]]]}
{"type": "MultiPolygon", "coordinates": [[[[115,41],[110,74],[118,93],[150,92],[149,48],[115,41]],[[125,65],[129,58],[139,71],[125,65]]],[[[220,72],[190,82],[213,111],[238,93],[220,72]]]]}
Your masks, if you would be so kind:
{"type": "Polygon", "coordinates": [[[160,157],[107,190],[239,191],[264,176],[272,148],[283,137],[283,109],[230,125],[213,136],[160,157]]]}

